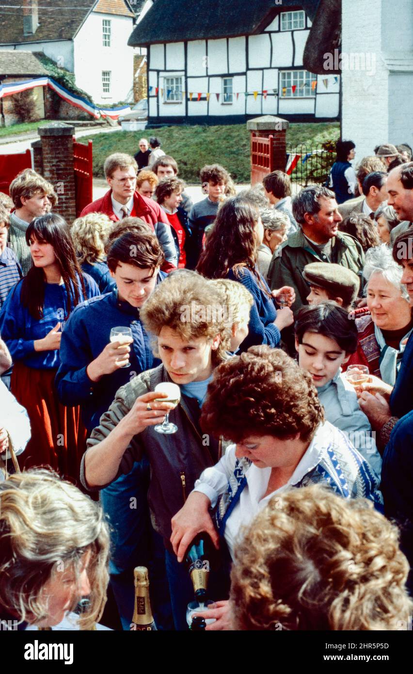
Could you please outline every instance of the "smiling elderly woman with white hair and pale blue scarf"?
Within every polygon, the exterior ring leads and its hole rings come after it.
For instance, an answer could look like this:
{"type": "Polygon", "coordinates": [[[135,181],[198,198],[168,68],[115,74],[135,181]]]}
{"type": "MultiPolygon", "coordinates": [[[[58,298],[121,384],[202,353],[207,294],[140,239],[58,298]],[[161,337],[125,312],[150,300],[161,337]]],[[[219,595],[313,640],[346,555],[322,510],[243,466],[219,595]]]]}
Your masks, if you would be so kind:
{"type": "Polygon", "coordinates": [[[404,347],[413,330],[409,295],[386,245],[366,253],[363,276],[367,280],[367,307],[370,315],[356,319],[358,346],[343,369],[367,365],[371,374],[390,386],[395,383],[404,347]]]}

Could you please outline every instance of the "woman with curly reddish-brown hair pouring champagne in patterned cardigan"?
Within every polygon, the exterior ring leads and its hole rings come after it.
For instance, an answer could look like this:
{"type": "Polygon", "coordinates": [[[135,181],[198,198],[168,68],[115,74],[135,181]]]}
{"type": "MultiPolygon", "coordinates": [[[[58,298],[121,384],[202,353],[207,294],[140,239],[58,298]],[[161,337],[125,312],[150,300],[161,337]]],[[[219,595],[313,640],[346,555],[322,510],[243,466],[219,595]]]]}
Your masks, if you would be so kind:
{"type": "MultiPolygon", "coordinates": [[[[234,444],[203,471],[172,518],[170,541],[179,561],[199,532],[218,545],[209,513],[217,503],[218,532],[231,554],[243,526],[274,494],[292,487],[325,482],[344,498],[365,497],[381,508],[377,477],[346,435],[324,421],[311,375],[280,349],[255,346],[222,363],[208,387],[201,424],[234,444]]],[[[218,611],[221,618],[226,606],[218,611]]],[[[210,628],[226,629],[225,622],[210,628]]]]}

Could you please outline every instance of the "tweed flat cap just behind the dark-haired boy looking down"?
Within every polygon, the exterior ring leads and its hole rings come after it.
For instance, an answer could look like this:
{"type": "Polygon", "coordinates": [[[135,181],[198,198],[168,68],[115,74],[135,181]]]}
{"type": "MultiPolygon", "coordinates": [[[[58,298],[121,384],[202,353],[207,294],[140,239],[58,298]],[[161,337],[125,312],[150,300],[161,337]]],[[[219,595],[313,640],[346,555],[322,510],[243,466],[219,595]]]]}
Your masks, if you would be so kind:
{"type": "Polygon", "coordinates": [[[360,289],[357,274],[351,269],[342,267],[341,264],[311,262],[306,264],[303,277],[311,286],[324,288],[333,297],[342,297],[346,306],[354,302],[360,289]]]}

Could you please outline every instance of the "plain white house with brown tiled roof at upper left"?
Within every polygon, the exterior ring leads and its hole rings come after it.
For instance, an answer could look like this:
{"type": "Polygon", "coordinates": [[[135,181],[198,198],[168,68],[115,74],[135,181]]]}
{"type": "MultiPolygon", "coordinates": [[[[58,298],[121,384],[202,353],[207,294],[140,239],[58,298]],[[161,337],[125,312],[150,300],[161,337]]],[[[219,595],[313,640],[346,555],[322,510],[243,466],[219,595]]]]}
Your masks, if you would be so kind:
{"type": "MultiPolygon", "coordinates": [[[[139,3],[140,5],[141,3],[139,3]]],[[[44,52],[96,103],[133,100],[129,0],[2,0],[0,49],[44,52]]]]}

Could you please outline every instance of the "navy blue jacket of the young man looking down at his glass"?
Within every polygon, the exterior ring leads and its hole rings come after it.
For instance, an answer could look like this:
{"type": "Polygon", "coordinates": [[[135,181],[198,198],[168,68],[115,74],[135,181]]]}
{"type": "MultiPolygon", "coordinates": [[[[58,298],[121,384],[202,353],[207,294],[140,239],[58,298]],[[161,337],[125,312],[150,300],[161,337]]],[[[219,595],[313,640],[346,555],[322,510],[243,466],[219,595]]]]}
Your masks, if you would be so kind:
{"type": "MultiPolygon", "coordinates": [[[[159,272],[158,281],[165,278],[159,272]]],[[[139,319],[139,309],[129,302],[118,301],[117,288],[77,306],[65,324],[60,345],[60,367],[55,384],[59,400],[65,405],[82,408],[82,419],[88,431],[99,425],[117,390],[132,377],[159,365],[150,348],[149,338],[139,319]],[[109,342],[110,329],[129,326],[133,335],[131,367],[120,368],[99,381],[91,381],[86,367],[109,342]]]]}

